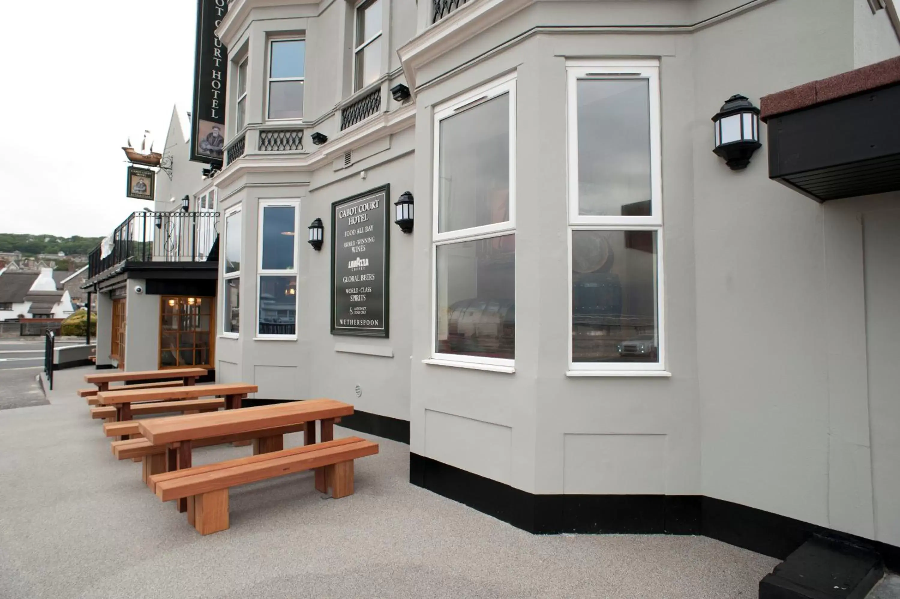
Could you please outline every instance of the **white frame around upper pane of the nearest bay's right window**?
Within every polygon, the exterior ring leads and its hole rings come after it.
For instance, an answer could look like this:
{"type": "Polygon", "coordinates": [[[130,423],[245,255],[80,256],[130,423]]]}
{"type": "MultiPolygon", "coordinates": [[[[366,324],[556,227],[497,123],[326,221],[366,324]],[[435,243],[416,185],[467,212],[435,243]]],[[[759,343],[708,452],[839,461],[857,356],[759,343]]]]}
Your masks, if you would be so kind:
{"type": "Polygon", "coordinates": [[[572,224],[662,225],[662,150],[660,132],[660,66],[658,60],[568,60],[569,222],[572,224]],[[578,80],[647,79],[650,93],[650,216],[587,216],[579,214],[578,80]]]}

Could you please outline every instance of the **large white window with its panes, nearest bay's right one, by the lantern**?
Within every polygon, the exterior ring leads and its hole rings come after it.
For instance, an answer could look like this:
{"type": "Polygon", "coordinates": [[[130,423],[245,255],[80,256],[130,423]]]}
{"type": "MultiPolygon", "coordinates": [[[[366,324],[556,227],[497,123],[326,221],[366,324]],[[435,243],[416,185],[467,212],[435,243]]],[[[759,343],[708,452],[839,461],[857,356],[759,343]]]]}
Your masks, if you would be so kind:
{"type": "Polygon", "coordinates": [[[657,60],[570,60],[569,375],[664,376],[657,60]]]}

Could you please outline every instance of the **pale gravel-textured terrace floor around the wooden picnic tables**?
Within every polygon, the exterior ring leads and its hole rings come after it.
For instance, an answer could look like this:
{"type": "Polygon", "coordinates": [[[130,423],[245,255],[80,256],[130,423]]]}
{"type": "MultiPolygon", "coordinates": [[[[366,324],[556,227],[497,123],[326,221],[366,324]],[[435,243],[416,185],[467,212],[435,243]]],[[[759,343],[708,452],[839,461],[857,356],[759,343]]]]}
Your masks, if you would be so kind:
{"type": "Polygon", "coordinates": [[[777,563],[705,537],[531,535],[410,485],[409,447],[379,438],[356,495],[323,499],[311,473],[239,486],[231,528],[202,537],[112,458],[75,395],[90,371],[56,373],[48,405],[0,411],[0,597],[750,599],[777,563]]]}

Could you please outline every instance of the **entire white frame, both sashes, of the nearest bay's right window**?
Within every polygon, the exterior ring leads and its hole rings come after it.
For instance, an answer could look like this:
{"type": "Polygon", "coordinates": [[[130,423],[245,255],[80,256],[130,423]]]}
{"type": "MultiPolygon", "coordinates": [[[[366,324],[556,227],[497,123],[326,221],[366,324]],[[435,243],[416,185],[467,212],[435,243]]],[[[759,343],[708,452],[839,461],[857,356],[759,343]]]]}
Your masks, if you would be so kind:
{"type": "Polygon", "coordinates": [[[570,377],[667,377],[665,343],[665,291],[663,277],[662,231],[662,157],[660,126],[659,61],[653,59],[578,59],[566,62],[568,118],[568,195],[569,226],[567,232],[569,265],[569,320],[566,336],[569,345],[570,377]],[[593,76],[593,77],[592,77],[593,76]],[[650,216],[584,216],[578,213],[578,79],[634,78],[648,79],[650,94],[650,216]],[[573,362],[572,361],[572,231],[654,231],[656,233],[656,362],[573,362]]]}

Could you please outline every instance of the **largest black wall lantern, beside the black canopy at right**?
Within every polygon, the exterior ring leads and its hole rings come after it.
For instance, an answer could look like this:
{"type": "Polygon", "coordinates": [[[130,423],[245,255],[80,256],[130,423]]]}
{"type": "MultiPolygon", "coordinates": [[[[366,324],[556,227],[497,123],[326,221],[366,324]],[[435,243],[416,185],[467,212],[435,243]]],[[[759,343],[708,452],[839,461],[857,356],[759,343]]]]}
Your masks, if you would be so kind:
{"type": "Polygon", "coordinates": [[[713,117],[716,130],[716,148],[713,150],[725,159],[732,170],[747,168],[753,152],[760,143],[760,109],[744,95],[728,98],[713,117]]]}

